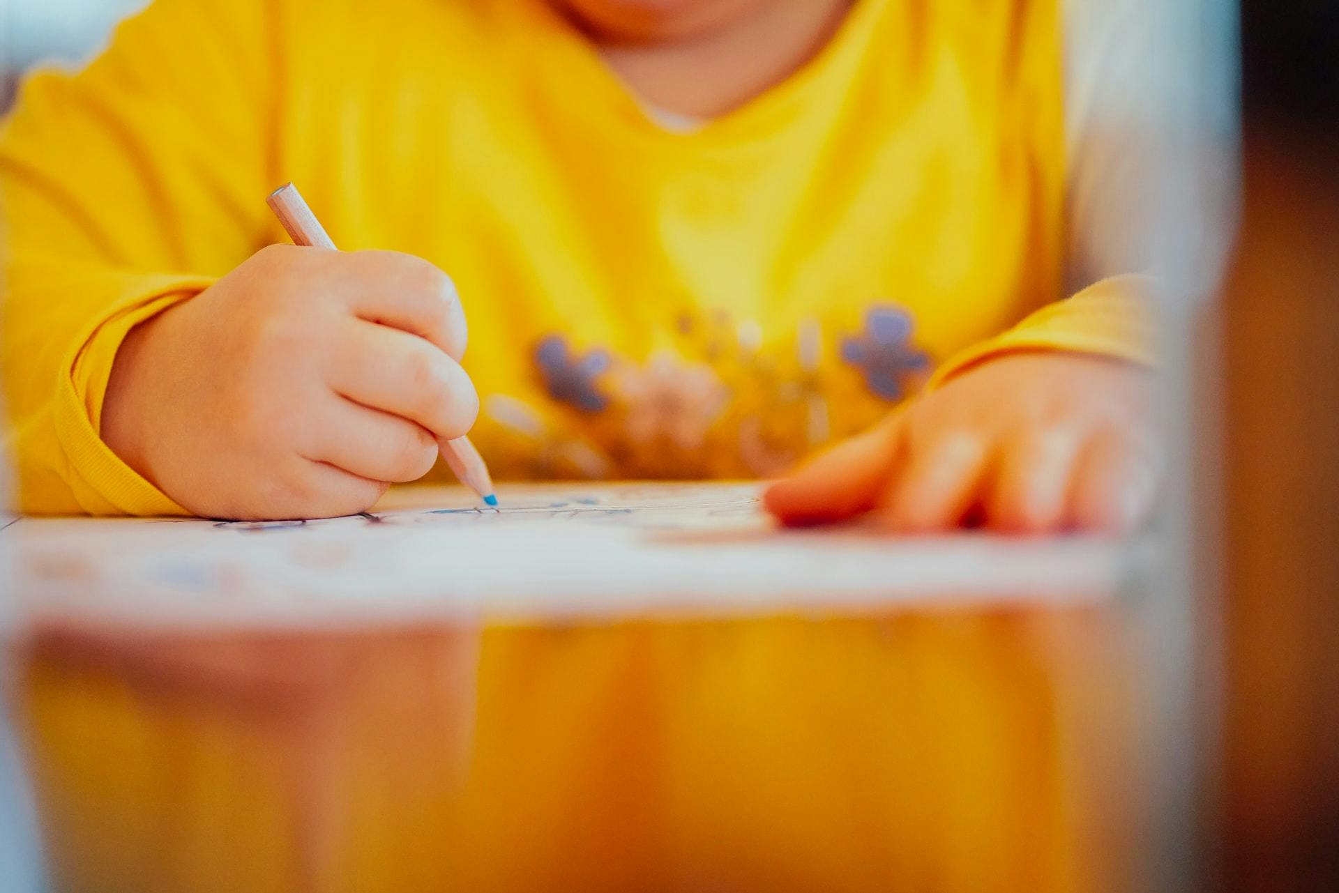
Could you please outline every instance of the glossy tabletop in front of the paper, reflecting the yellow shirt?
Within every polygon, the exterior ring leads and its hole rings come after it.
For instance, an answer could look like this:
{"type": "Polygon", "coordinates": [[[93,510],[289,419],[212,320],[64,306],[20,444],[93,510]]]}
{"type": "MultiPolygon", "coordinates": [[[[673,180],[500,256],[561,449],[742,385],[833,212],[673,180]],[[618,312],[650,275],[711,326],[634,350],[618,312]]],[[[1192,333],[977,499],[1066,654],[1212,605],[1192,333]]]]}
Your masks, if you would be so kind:
{"type": "Polygon", "coordinates": [[[59,889],[1038,893],[1138,861],[1110,609],[482,636],[477,677],[449,628],[37,639],[59,889]]]}

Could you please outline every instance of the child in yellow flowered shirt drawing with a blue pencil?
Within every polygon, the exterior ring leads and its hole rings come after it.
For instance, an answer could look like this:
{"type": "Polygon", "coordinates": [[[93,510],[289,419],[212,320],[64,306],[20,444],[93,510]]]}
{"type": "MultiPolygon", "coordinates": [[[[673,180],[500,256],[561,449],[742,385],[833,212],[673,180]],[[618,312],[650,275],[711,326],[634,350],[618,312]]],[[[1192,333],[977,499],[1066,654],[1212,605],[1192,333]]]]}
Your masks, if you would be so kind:
{"type": "Polygon", "coordinates": [[[158,0],[0,143],[20,506],[353,513],[466,431],[767,477],[877,423],[769,507],[1125,527],[1146,183],[1085,130],[1130,56],[1066,42],[1131,0],[1082,5],[158,0]],[[345,253],[274,244],[288,179],[345,253]]]}

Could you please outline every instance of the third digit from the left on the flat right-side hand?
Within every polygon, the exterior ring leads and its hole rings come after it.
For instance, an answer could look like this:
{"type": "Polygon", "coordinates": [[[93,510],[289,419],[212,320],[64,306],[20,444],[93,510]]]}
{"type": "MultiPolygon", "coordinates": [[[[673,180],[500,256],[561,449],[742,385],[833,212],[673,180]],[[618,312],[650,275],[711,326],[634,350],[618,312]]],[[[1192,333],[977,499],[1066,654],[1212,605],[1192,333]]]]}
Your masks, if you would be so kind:
{"type": "Polygon", "coordinates": [[[986,505],[991,526],[1046,533],[1065,525],[1081,444],[1077,432],[1065,430],[1020,434],[1002,443],[986,505]]]}

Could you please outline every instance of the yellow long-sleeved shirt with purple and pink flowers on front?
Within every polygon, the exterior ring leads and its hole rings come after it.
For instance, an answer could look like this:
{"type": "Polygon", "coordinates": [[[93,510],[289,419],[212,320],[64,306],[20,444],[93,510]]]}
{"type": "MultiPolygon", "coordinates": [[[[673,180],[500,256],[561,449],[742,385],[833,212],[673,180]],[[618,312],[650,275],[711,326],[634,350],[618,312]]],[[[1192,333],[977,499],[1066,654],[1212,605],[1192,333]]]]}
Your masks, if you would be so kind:
{"type": "Polygon", "coordinates": [[[998,351],[1142,359],[1134,280],[1060,301],[1055,4],[861,0],[672,133],[541,0],[158,0],[0,137],[20,507],[181,513],[99,439],[107,376],[289,179],[455,278],[501,478],[767,475],[998,351]]]}

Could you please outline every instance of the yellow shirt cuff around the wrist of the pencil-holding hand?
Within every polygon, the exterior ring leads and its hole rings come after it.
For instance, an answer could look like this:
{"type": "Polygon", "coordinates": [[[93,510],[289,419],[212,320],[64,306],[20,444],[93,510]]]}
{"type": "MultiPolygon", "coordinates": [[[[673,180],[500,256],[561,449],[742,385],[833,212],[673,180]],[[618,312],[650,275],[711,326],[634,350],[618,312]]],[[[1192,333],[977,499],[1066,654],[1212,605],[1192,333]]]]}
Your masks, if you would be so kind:
{"type": "Polygon", "coordinates": [[[100,320],[75,339],[66,356],[54,422],[74,473],[75,498],[90,514],[190,514],[112,453],[99,428],[111,367],[130,329],[212,284],[213,280],[200,277],[137,278],[134,295],[108,307],[100,320]]]}

